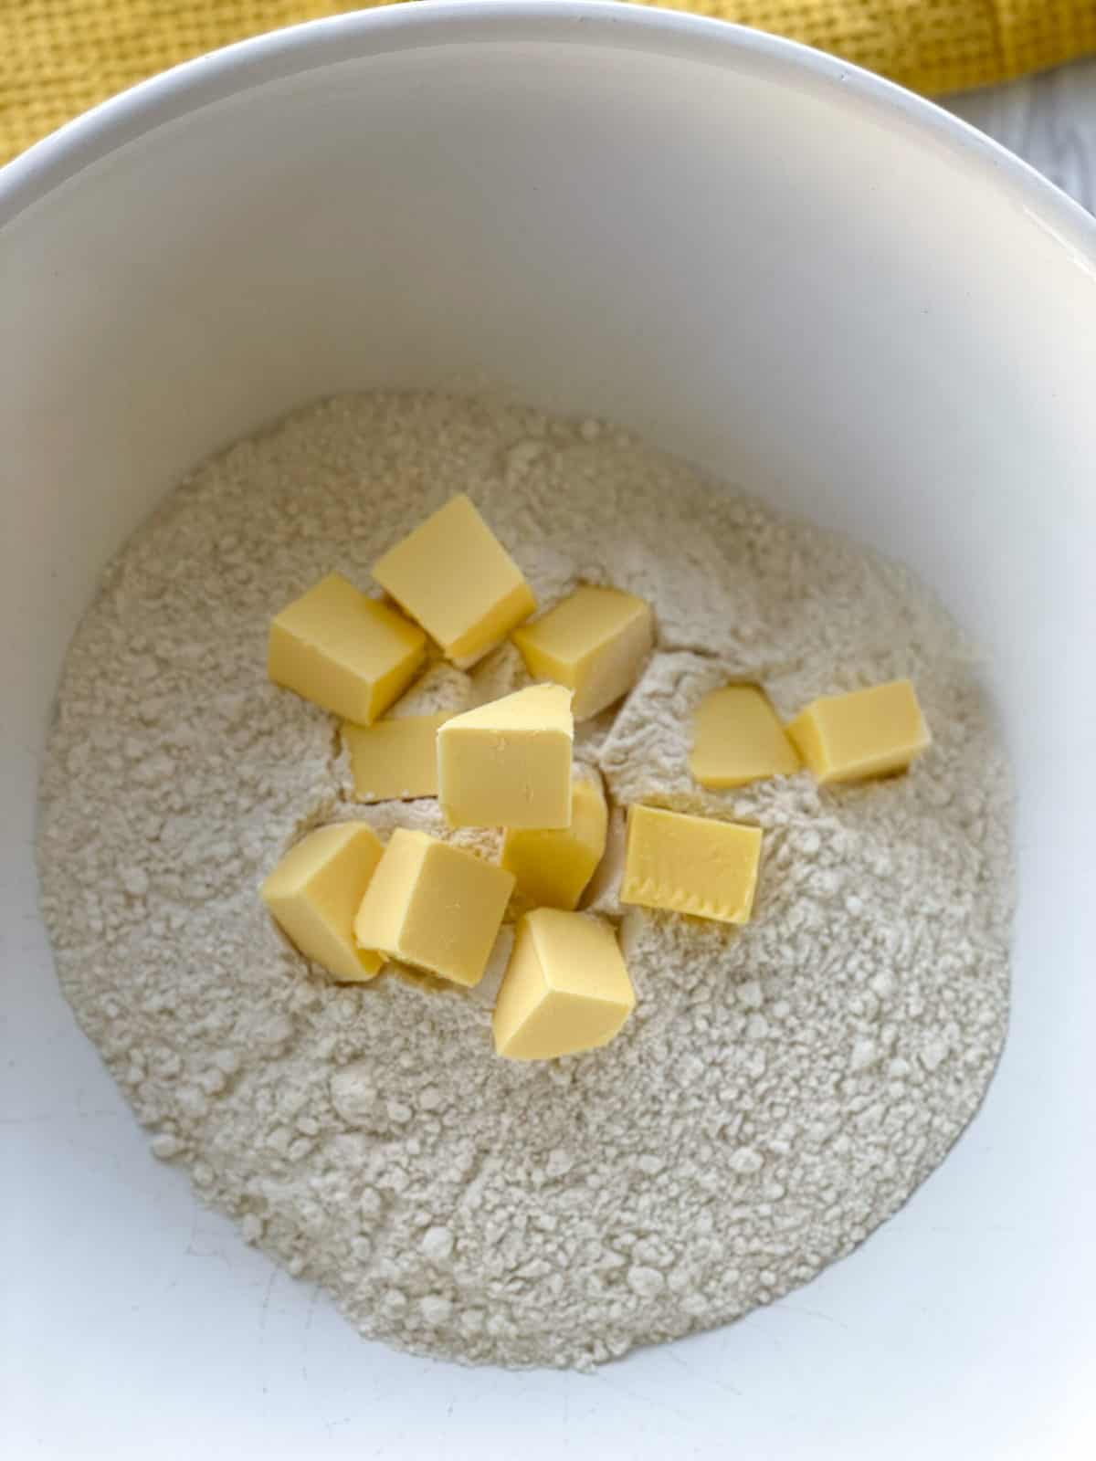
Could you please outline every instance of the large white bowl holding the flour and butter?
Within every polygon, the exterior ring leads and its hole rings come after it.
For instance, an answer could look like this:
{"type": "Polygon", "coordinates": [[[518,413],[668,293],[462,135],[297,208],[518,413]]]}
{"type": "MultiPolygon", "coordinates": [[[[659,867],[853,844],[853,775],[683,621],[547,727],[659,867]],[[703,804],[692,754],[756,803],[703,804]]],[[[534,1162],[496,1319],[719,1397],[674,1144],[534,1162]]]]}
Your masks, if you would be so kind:
{"type": "Polygon", "coordinates": [[[12,1455],[1081,1455],[1096,1202],[1096,225],[837,61],[681,15],[422,4],[139,86],[0,174],[12,1455]],[[1013,1031],[853,1258],[596,1378],[362,1344],[158,1166],[53,977],[58,663],[178,475],[310,397],[601,412],[899,554],[1020,780],[1013,1031]]]}

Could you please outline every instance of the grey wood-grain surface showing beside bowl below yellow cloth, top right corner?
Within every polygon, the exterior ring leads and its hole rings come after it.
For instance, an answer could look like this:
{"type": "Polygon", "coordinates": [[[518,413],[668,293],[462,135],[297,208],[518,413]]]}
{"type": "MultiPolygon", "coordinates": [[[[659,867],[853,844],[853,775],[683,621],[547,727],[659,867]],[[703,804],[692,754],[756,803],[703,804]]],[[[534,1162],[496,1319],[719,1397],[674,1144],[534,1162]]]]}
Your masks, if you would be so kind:
{"type": "Polygon", "coordinates": [[[1096,213],[1096,58],[951,96],[944,105],[1096,213]]]}

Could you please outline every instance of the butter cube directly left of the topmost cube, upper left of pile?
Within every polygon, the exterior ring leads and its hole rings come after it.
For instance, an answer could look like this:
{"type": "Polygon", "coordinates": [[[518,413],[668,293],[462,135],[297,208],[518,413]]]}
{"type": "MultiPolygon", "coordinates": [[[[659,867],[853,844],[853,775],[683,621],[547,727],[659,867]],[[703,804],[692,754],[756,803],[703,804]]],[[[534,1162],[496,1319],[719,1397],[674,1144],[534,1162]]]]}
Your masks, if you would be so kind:
{"type": "Polygon", "coordinates": [[[266,671],[276,685],[367,726],[425,656],[422,630],[330,573],[270,622],[266,671]]]}

